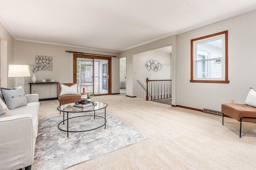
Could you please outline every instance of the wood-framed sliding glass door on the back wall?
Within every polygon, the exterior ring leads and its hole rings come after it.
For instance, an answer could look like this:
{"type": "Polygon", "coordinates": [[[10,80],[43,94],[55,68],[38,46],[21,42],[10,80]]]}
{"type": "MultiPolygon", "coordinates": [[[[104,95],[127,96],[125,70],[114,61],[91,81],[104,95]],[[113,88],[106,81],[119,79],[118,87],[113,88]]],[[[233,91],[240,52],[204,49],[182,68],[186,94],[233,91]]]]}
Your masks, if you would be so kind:
{"type": "Polygon", "coordinates": [[[111,57],[74,54],[74,82],[78,93],[85,88],[90,95],[111,94],[111,57]]]}

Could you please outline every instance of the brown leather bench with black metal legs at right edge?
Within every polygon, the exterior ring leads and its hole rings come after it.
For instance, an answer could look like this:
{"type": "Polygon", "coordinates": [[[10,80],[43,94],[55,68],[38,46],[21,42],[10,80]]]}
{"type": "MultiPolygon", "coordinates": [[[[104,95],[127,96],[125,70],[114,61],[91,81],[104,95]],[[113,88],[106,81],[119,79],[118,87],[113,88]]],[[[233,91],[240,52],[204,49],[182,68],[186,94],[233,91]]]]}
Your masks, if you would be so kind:
{"type": "Polygon", "coordinates": [[[242,130],[242,121],[256,123],[256,107],[246,104],[225,103],[221,105],[222,125],[224,123],[224,115],[228,115],[237,121],[240,121],[240,138],[242,130]]]}

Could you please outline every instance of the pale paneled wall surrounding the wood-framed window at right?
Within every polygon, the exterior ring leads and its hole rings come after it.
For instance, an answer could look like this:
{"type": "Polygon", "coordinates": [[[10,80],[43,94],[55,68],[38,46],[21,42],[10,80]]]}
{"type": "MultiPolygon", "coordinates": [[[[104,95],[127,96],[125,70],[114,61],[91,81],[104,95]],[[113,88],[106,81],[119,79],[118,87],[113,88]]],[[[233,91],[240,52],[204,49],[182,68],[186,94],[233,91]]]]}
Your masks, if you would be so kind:
{"type": "Polygon", "coordinates": [[[178,35],[178,105],[221,111],[222,103],[243,104],[256,88],[256,11],[178,35]],[[228,30],[229,84],[191,83],[190,40],[228,30]]]}

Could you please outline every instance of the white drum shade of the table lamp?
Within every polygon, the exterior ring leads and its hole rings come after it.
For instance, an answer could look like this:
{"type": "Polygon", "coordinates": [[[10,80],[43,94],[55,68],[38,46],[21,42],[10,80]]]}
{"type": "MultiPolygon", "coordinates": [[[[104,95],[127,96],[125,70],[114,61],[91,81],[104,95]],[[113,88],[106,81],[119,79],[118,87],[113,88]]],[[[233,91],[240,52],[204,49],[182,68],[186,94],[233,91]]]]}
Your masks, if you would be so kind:
{"type": "Polygon", "coordinates": [[[28,65],[9,65],[8,77],[28,77],[30,76],[28,65]]]}

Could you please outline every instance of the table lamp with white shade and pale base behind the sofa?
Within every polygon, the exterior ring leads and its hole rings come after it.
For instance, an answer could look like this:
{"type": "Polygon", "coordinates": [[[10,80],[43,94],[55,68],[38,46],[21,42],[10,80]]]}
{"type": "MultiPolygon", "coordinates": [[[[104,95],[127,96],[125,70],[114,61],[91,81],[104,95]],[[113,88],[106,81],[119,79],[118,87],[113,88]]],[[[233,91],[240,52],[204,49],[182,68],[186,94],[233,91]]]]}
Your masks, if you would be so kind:
{"type": "Polygon", "coordinates": [[[28,65],[9,65],[8,77],[15,77],[15,87],[24,87],[24,77],[30,77],[28,65]]]}

